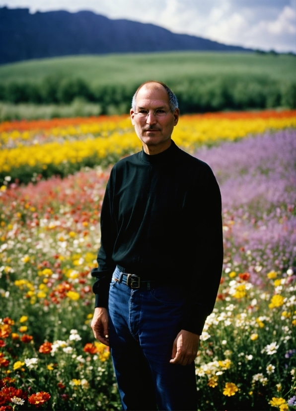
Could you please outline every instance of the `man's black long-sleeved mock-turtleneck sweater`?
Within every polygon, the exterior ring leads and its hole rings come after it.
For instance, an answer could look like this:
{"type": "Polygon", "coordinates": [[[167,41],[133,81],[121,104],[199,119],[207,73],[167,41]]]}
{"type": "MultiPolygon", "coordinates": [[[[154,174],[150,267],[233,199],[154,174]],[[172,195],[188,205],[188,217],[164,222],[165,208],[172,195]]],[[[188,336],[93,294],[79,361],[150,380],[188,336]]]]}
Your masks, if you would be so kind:
{"type": "Polygon", "coordinates": [[[171,146],[144,150],[111,171],[101,211],[95,307],[108,307],[116,265],[141,280],[183,287],[182,329],[201,334],[215,305],[223,260],[221,195],[211,168],[171,146]]]}

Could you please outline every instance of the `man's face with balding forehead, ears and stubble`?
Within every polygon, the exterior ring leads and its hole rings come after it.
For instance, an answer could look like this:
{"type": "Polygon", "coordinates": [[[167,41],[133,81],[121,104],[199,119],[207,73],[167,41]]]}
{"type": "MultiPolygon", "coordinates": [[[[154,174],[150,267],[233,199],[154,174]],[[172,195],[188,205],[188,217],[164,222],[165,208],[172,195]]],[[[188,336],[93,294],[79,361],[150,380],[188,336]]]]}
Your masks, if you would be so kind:
{"type": "Polygon", "coordinates": [[[140,117],[131,109],[131,118],[135,131],[143,142],[144,150],[170,144],[173,128],[179,119],[179,109],[177,108],[175,112],[169,111],[169,99],[163,86],[158,83],[148,83],[139,90],[136,113],[141,110],[147,110],[148,116],[140,117]],[[161,118],[154,116],[153,113],[157,108],[163,109],[167,114],[161,118]]]}

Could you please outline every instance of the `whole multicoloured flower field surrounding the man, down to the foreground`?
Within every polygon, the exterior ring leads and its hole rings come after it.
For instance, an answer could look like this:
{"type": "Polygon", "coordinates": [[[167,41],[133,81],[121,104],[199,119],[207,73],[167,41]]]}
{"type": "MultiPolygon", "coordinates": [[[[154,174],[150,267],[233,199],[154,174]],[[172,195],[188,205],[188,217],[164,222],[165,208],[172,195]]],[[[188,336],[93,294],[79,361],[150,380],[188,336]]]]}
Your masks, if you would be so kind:
{"type": "MultiPolygon", "coordinates": [[[[295,112],[271,113],[183,116],[173,135],[191,150],[207,142],[195,155],[222,191],[224,264],[196,359],[200,410],[295,410],[295,112]]],[[[62,152],[86,144],[87,133],[97,142],[132,133],[123,117],[104,118],[99,131],[83,120],[84,134],[81,119],[67,121],[2,123],[2,151],[58,144],[62,152]],[[80,131],[62,135],[67,127],[80,131]]],[[[120,147],[117,155],[139,143],[120,147]]],[[[10,184],[12,172],[0,191],[0,410],[120,409],[109,351],[90,329],[109,169],[27,186],[10,184]]]]}

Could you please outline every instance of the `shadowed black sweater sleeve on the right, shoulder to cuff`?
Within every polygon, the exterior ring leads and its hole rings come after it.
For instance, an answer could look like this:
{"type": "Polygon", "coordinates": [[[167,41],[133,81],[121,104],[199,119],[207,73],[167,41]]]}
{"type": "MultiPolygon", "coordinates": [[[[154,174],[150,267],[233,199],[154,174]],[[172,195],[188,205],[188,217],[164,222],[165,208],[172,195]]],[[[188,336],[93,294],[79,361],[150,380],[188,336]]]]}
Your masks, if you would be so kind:
{"type": "Polygon", "coordinates": [[[201,334],[207,316],[213,311],[223,263],[222,202],[216,178],[208,165],[194,195],[194,238],[191,252],[194,268],[187,315],[182,328],[201,334]]]}

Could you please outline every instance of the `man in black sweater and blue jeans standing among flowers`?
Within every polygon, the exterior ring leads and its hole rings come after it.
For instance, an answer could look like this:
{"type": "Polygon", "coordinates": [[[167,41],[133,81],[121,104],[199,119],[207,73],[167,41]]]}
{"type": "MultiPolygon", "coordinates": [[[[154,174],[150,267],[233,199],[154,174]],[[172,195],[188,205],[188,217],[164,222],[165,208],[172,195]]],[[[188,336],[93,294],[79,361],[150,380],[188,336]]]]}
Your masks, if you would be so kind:
{"type": "Polygon", "coordinates": [[[124,410],[196,410],[194,359],[222,272],[220,190],[171,140],[179,109],[165,84],[139,87],[131,119],[143,150],[107,184],[91,326],[110,343],[124,410]]]}

